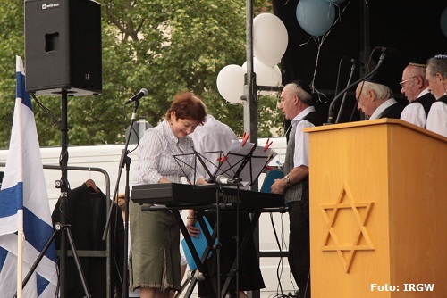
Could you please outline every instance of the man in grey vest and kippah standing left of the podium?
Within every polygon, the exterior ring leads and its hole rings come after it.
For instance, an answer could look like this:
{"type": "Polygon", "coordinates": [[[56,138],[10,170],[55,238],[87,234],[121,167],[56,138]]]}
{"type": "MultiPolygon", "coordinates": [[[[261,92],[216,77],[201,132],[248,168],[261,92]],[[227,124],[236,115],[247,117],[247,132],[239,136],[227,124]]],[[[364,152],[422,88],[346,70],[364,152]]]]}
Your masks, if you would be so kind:
{"type": "Polygon", "coordinates": [[[275,179],[272,193],[284,194],[289,206],[289,266],[301,298],[310,298],[310,239],[308,133],[303,128],[322,125],[324,118],[314,108],[307,82],[287,84],[278,103],[284,118],[291,120],[291,134],[283,164],[284,178],[275,179]]]}

